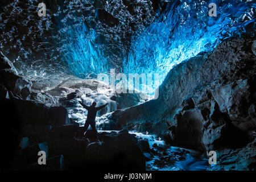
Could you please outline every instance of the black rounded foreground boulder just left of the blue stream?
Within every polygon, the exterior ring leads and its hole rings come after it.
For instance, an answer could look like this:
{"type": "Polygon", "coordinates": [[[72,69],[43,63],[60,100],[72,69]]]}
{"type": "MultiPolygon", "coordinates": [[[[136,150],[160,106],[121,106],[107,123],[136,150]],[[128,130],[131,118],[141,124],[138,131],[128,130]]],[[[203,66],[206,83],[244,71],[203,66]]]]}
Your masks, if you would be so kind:
{"type": "Polygon", "coordinates": [[[131,134],[105,134],[98,149],[98,163],[115,170],[145,170],[145,158],[137,143],[131,134]]]}

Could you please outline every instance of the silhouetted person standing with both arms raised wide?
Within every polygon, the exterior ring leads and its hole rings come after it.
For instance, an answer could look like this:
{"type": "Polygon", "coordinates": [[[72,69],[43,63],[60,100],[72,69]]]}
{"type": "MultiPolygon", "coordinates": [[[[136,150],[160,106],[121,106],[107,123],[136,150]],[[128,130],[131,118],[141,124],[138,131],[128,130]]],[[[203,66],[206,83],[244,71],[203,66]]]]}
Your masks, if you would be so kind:
{"type": "Polygon", "coordinates": [[[86,106],[84,104],[82,104],[82,102],[79,102],[86,110],[88,110],[88,114],[87,114],[87,119],[85,121],[84,124],[84,131],[83,134],[85,133],[85,131],[88,129],[89,125],[92,127],[93,130],[93,134],[95,137],[97,137],[97,130],[96,130],[96,126],[95,126],[95,118],[96,118],[96,114],[98,110],[103,109],[106,105],[102,105],[100,107],[95,107],[96,106],[96,102],[93,102],[93,104],[91,106],[86,106]]]}

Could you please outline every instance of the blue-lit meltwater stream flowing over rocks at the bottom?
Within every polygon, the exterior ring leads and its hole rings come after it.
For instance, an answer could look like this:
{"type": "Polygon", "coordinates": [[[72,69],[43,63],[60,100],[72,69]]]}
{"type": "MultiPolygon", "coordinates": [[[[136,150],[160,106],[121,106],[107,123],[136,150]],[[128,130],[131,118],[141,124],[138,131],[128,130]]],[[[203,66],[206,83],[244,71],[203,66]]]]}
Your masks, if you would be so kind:
{"type": "MultiPolygon", "coordinates": [[[[112,132],[114,130],[98,130],[112,132]]],[[[205,171],[209,167],[208,159],[200,151],[188,148],[167,146],[155,135],[129,131],[138,139],[147,140],[152,152],[144,152],[146,169],[150,171],[205,171]]]]}

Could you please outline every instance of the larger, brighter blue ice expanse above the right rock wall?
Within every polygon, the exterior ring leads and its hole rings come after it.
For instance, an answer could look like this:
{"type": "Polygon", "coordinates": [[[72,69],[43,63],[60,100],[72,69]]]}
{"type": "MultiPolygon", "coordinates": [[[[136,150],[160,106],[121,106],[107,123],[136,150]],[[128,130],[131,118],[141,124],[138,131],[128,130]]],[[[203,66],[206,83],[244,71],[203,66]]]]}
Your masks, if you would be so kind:
{"type": "Polygon", "coordinates": [[[154,23],[133,36],[123,61],[126,73],[159,73],[160,83],[174,65],[200,52],[211,51],[230,36],[255,33],[253,1],[169,1],[154,23]],[[217,17],[208,15],[209,3],[217,17]]]}

